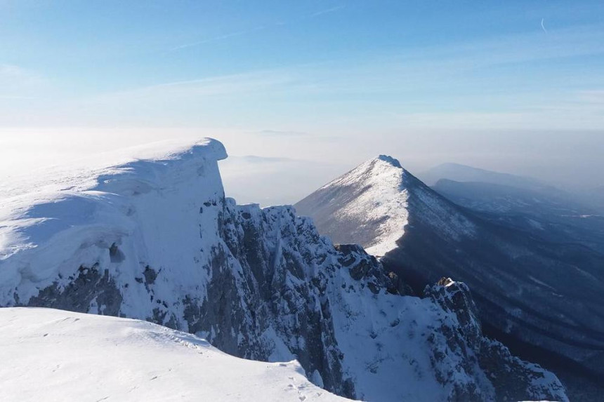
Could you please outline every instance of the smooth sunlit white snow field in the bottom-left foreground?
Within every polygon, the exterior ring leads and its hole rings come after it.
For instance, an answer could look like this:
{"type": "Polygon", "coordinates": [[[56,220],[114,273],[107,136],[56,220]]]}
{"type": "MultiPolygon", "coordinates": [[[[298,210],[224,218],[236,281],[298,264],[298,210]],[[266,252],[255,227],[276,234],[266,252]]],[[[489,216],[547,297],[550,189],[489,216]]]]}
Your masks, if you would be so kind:
{"type": "Polygon", "coordinates": [[[345,401],[296,361],[238,359],[145,321],[0,309],[0,401],[345,401]]]}

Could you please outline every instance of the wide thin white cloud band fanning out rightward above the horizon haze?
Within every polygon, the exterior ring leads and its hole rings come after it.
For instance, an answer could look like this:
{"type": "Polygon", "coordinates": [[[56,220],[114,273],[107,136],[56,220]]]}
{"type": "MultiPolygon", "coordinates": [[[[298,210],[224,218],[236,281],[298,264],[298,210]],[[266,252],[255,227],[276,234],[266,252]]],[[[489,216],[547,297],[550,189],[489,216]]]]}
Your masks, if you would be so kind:
{"type": "MultiPolygon", "coordinates": [[[[601,127],[601,109],[600,116],[596,110],[601,107],[602,95],[596,91],[601,86],[595,86],[599,76],[595,72],[576,74],[565,86],[552,86],[551,80],[560,76],[558,63],[541,60],[565,59],[562,68],[572,65],[567,62],[572,58],[604,54],[603,33],[601,27],[577,27],[550,29],[545,36],[533,29],[466,43],[366,51],[331,62],[63,98],[46,102],[39,114],[44,119],[64,116],[65,121],[77,116],[93,124],[251,127],[260,130],[247,130],[248,134],[281,142],[336,133],[331,127],[369,123],[437,128],[601,127]],[[518,74],[520,64],[528,74],[518,74]],[[577,88],[584,93],[565,98],[577,88]],[[390,121],[389,113],[405,116],[390,121]],[[292,127],[296,130],[288,129],[292,127]]],[[[4,76],[21,74],[13,67],[0,71],[4,76]]],[[[18,91],[0,93],[4,98],[32,96],[18,91]]],[[[10,109],[0,114],[4,115],[0,121],[15,121],[10,109]]],[[[30,121],[32,115],[32,109],[24,110],[20,119],[30,121]]]]}

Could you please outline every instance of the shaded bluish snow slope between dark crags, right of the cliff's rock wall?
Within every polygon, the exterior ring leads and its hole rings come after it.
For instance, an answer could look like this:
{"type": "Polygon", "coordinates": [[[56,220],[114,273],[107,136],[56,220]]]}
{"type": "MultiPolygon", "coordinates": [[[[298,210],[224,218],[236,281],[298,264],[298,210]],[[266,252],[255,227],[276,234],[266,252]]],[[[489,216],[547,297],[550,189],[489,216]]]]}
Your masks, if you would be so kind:
{"type": "MultiPolygon", "coordinates": [[[[447,338],[436,329],[441,325],[458,327],[457,318],[429,298],[388,293],[375,297],[368,288],[342,291],[341,283],[348,287],[355,282],[341,270],[331,300],[343,363],[355,381],[358,396],[372,401],[447,401],[452,384],[437,380],[431,356],[436,347],[447,349],[447,338]]],[[[453,373],[456,386],[480,383],[484,374],[478,366],[475,373],[466,373],[461,368],[464,357],[452,351],[447,355],[442,370],[453,373]]],[[[482,380],[482,387],[490,384],[482,380]]],[[[489,398],[485,396],[485,400],[489,398]]]]}

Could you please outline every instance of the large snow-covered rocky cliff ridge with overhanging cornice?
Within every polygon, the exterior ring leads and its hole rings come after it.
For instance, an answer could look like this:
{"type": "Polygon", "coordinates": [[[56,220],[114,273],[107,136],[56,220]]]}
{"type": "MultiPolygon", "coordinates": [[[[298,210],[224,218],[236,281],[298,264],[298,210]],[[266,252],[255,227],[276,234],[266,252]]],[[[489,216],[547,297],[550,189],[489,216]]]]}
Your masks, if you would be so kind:
{"type": "Polygon", "coordinates": [[[0,305],[145,319],[235,356],[297,359],[349,398],[567,400],[553,374],[482,335],[463,283],[402,295],[375,257],[333,246],[291,206],[226,199],[225,156],[208,140],[11,208],[0,305]]]}

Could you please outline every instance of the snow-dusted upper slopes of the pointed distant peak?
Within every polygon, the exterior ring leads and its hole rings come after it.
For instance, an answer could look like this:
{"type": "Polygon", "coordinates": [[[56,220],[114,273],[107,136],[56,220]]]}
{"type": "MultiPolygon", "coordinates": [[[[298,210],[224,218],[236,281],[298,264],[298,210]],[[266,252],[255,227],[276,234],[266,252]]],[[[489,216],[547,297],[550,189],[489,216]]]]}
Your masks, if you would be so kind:
{"type": "Polygon", "coordinates": [[[470,220],[420,184],[396,159],[380,155],[299,201],[296,210],[312,216],[320,233],[335,243],[357,243],[379,257],[394,250],[405,234],[410,195],[449,239],[475,234],[470,220]]]}

